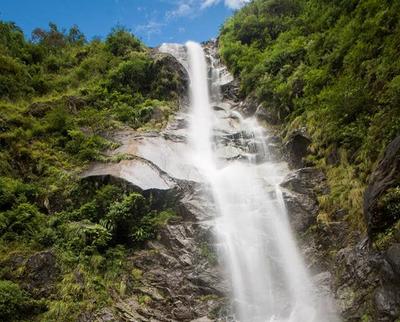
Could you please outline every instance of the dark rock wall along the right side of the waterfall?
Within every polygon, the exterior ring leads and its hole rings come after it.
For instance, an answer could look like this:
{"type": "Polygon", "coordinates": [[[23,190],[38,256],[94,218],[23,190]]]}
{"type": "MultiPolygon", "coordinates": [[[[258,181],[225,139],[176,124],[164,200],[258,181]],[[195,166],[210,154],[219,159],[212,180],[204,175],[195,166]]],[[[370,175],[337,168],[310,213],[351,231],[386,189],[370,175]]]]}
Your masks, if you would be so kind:
{"type": "MultiPolygon", "coordinates": [[[[234,91],[227,90],[227,97],[232,97],[234,91]]],[[[249,115],[253,111],[266,121],[259,112],[261,105],[254,108],[254,104],[253,100],[245,100],[238,110],[249,115]]],[[[270,128],[271,125],[265,124],[270,128]]],[[[324,170],[304,161],[312,143],[304,129],[289,138],[282,132],[276,133],[273,147],[293,168],[282,183],[287,189],[283,192],[286,207],[306,261],[315,273],[315,283],[322,288],[325,285],[328,293],[332,290],[344,321],[397,321],[400,317],[398,217],[394,217],[397,212],[385,213],[380,200],[390,189],[396,189],[398,138],[388,146],[364,194],[365,225],[369,231],[366,234],[355,230],[344,209],[329,218],[324,216],[320,200],[332,191],[324,170]],[[384,235],[379,235],[382,231],[384,235]],[[382,244],[373,243],[377,235],[383,239],[382,244]]],[[[395,199],[392,204],[397,207],[398,201],[395,199]]]]}

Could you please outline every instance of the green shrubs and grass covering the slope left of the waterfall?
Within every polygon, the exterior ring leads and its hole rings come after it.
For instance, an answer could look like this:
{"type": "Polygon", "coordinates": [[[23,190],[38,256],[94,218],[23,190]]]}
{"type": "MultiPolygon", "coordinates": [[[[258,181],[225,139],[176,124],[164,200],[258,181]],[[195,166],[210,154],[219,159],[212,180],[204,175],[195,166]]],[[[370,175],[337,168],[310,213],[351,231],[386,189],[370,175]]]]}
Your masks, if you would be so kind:
{"type": "Polygon", "coordinates": [[[0,21],[0,320],[77,320],[129,291],[127,256],[175,214],[78,174],[108,161],[111,131],[162,126],[180,82],[122,27],[87,41],[76,26],[51,23],[26,40],[0,21]],[[155,109],[163,120],[152,119],[155,109]],[[33,282],[29,263],[48,250],[55,276],[33,282]]]}

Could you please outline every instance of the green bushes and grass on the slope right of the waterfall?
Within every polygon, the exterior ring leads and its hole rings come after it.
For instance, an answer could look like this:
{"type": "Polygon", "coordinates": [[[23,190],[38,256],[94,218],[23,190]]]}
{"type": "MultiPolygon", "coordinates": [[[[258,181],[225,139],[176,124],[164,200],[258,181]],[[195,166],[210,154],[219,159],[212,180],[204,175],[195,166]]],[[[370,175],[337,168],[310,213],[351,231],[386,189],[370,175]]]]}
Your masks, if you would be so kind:
{"type": "MultiPolygon", "coordinates": [[[[322,211],[347,210],[359,230],[369,175],[400,133],[399,46],[400,3],[389,0],[255,0],[221,30],[220,53],[242,94],[287,133],[309,131],[309,161],[332,188],[322,211]]],[[[385,209],[398,211],[390,202],[385,209]]]]}

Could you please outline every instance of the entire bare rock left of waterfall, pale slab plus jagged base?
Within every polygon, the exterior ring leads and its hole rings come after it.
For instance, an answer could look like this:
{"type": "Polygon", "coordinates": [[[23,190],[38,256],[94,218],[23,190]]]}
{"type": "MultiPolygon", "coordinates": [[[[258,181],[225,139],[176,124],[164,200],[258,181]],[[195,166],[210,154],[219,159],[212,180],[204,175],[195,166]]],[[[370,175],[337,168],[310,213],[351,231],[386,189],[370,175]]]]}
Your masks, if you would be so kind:
{"type": "Polygon", "coordinates": [[[179,218],[126,259],[137,276],[124,280],[125,295],[113,295],[114,304],[101,312],[83,312],[80,321],[209,321],[223,314],[229,287],[221,278],[211,238],[215,209],[186,155],[186,123],[178,114],[157,133],[115,133],[120,146],[108,156],[122,160],[94,163],[82,173],[83,180],[151,194],[161,206],[173,199],[169,204],[179,218]]]}

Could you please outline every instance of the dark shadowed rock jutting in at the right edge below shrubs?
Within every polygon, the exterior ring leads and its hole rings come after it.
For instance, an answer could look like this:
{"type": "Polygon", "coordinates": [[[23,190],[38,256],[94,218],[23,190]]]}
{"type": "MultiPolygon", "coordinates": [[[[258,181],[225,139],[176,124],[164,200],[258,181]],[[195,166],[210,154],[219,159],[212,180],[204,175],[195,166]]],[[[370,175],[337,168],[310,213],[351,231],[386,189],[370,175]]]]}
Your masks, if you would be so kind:
{"type": "Polygon", "coordinates": [[[400,136],[386,148],[385,155],[371,175],[364,193],[364,216],[368,233],[374,237],[400,219],[399,213],[387,214],[380,205],[381,197],[389,188],[400,184],[400,136]]]}

